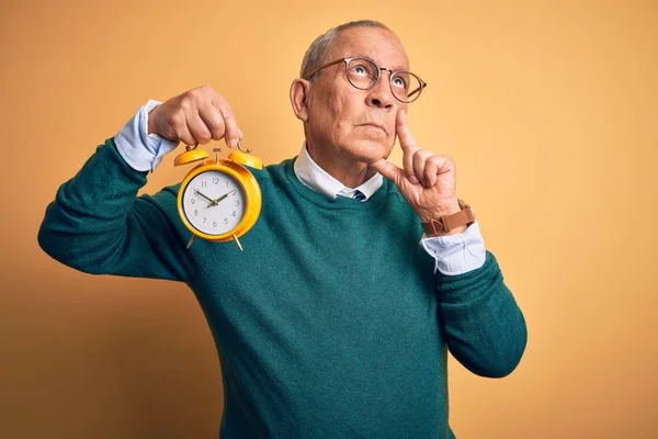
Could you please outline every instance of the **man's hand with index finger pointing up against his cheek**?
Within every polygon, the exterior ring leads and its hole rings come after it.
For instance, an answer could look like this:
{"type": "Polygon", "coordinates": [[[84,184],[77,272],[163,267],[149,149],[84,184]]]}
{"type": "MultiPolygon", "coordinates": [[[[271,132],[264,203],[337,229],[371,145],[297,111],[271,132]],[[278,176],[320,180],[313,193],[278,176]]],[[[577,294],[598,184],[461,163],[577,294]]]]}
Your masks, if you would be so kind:
{"type": "MultiPolygon", "coordinates": [[[[458,212],[453,159],[416,145],[404,110],[397,113],[396,131],[402,148],[405,169],[384,158],[371,164],[371,167],[395,183],[421,222],[458,212]]],[[[458,227],[451,235],[465,229],[465,226],[458,227]]]]}

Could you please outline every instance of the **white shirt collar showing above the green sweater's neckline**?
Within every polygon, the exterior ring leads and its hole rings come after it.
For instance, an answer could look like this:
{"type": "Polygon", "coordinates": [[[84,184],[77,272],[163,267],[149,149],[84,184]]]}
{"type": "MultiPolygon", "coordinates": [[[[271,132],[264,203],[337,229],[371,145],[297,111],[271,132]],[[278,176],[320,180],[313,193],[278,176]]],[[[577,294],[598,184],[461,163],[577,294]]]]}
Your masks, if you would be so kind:
{"type": "Polygon", "coordinates": [[[308,150],[306,149],[306,142],[302,146],[302,150],[295,160],[295,175],[297,179],[305,185],[309,187],[316,192],[324,193],[325,195],[331,196],[349,196],[352,198],[356,191],[360,191],[365,195],[363,201],[367,201],[382,185],[384,178],[381,173],[376,172],[366,182],[358,188],[348,188],[333,177],[331,177],[326,170],[320,168],[316,164],[308,150]]]}

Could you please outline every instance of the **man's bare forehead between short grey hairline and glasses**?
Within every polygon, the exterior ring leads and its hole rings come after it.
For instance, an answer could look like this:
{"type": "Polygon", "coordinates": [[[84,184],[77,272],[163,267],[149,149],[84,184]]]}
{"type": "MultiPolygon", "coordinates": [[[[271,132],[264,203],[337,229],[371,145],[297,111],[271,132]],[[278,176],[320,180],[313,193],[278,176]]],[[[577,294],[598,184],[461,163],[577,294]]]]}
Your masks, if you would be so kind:
{"type": "Polygon", "coordinates": [[[393,32],[381,27],[360,26],[342,31],[329,53],[327,61],[349,56],[365,56],[382,67],[396,70],[409,67],[402,43],[393,32]]]}

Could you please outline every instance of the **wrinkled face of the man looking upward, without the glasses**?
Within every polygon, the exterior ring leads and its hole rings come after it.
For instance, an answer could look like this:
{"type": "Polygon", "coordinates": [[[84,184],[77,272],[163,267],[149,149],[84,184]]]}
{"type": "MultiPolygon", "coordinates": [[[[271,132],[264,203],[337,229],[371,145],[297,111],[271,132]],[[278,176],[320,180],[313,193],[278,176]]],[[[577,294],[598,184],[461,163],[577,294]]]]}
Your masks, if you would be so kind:
{"type": "MultiPolygon", "coordinates": [[[[400,41],[379,27],[341,32],[324,63],[354,56],[370,58],[393,71],[409,68],[400,41]]],[[[332,148],[330,154],[337,158],[370,164],[388,157],[395,143],[396,114],[407,108],[393,97],[389,79],[390,74],[382,71],[374,88],[359,90],[348,81],[344,63],[322,69],[308,95],[306,136],[309,143],[332,148]]]]}

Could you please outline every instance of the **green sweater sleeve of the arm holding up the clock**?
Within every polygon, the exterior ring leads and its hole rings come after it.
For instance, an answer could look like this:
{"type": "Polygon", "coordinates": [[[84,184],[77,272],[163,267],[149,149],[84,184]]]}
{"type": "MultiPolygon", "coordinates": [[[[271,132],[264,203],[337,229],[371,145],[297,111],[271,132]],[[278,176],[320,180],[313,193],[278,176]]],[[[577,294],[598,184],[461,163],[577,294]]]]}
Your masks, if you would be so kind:
{"type": "Polygon", "coordinates": [[[177,191],[137,196],[146,176],[107,139],[46,207],[37,236],[42,249],[86,273],[186,282],[184,237],[167,214],[175,212],[177,191]]]}

